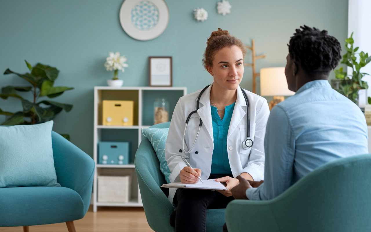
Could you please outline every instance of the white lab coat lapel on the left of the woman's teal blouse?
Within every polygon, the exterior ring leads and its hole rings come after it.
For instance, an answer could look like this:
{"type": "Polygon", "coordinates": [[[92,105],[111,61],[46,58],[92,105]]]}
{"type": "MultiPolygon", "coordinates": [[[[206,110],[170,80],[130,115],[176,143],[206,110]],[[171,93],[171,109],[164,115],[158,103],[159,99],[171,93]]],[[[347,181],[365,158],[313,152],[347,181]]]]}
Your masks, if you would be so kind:
{"type": "Polygon", "coordinates": [[[200,115],[200,118],[203,122],[203,126],[209,132],[212,141],[214,141],[214,137],[213,137],[213,122],[211,121],[210,89],[211,86],[213,86],[213,83],[211,83],[209,88],[207,88],[205,92],[201,95],[200,108],[197,110],[197,113],[198,115],[200,115]]]}

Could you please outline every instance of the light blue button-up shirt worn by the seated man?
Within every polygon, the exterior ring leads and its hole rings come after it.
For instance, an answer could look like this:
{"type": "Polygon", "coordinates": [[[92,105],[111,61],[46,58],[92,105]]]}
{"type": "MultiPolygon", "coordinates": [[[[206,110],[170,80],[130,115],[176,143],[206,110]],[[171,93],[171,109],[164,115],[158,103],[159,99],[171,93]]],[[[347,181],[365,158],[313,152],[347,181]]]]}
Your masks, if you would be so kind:
{"type": "Polygon", "coordinates": [[[250,200],[269,200],[330,161],[367,154],[367,124],[359,107],[311,81],[272,108],[265,134],[265,180],[246,190],[250,200]]]}

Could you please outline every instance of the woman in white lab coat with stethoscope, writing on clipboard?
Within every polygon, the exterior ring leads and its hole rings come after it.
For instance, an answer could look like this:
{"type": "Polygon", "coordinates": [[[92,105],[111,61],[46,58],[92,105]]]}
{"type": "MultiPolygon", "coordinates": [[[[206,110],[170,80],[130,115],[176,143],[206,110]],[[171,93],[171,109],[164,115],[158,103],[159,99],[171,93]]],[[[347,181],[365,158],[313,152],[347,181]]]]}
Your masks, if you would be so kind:
{"type": "Polygon", "coordinates": [[[264,136],[269,107],[265,98],[239,86],[245,54],[246,48],[241,40],[232,37],[228,31],[219,28],[211,33],[203,64],[214,82],[205,89],[199,109],[188,121],[184,148],[185,120],[196,110],[201,90],[181,97],[175,106],[165,146],[170,181],[197,183],[198,176],[202,180],[215,178],[226,182],[229,189],[170,189],[169,200],[177,206],[170,217],[175,232],[206,231],[206,209],[225,208],[233,200],[230,189],[239,183],[237,176],[255,181],[264,179],[264,136]],[[249,102],[251,147],[243,146],[248,127],[247,104],[242,91],[246,92],[249,102]],[[200,119],[203,124],[195,143],[200,119]],[[190,153],[184,153],[192,146],[190,153]],[[182,156],[193,169],[187,167],[182,156]]]}

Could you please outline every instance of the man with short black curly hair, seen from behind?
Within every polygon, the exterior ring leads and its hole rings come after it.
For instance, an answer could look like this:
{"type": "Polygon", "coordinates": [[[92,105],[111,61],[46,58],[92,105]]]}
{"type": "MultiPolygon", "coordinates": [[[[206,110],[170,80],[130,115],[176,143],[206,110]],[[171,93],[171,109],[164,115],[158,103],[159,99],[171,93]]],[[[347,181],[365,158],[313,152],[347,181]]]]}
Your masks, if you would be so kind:
{"type": "Polygon", "coordinates": [[[272,108],[265,134],[265,180],[232,189],[236,199],[269,200],[330,161],[367,154],[367,124],[359,107],[331,88],[340,43],[307,26],[290,39],[285,68],[295,95],[272,108]]]}

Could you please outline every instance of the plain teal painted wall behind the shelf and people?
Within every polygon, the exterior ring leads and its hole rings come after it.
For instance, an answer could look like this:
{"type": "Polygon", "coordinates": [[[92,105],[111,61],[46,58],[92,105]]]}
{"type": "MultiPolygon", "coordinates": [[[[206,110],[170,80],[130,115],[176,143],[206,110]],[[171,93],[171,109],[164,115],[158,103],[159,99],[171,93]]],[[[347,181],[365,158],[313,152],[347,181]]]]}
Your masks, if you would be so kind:
{"type": "MultiPolygon", "coordinates": [[[[173,56],[173,85],[186,86],[188,93],[210,84],[212,77],[201,63],[206,39],[221,27],[246,45],[256,41],[260,68],[284,66],[287,43],[299,26],[328,30],[344,45],[347,36],[347,0],[229,0],[231,14],[217,14],[218,0],[166,0],[170,22],[165,32],[150,41],[129,37],[119,22],[122,0],[2,0],[0,1],[0,72],[7,68],[24,73],[24,59],[55,66],[60,70],[56,86],[74,90],[55,98],[72,103],[69,113],[55,117],[53,130],[68,133],[71,141],[93,154],[93,86],[106,85],[113,76],[104,68],[108,52],[125,54],[128,68],[119,73],[125,86],[148,86],[148,56],[173,56]],[[203,7],[209,18],[193,19],[193,9],[203,7]]],[[[248,52],[245,62],[251,62],[248,52]]],[[[331,78],[334,75],[331,74],[331,78]]],[[[259,79],[257,80],[259,94],[259,79]]],[[[24,85],[13,76],[0,77],[0,87],[24,85]]],[[[252,71],[245,67],[241,86],[252,89],[252,71]]],[[[4,111],[21,109],[17,99],[0,99],[4,111]]],[[[0,123],[5,120],[0,115],[0,123]]]]}

